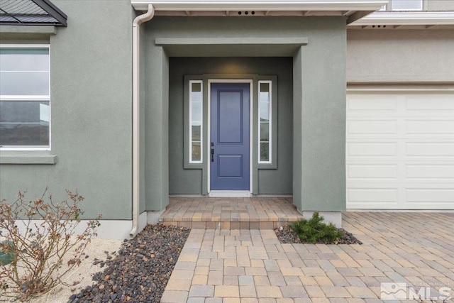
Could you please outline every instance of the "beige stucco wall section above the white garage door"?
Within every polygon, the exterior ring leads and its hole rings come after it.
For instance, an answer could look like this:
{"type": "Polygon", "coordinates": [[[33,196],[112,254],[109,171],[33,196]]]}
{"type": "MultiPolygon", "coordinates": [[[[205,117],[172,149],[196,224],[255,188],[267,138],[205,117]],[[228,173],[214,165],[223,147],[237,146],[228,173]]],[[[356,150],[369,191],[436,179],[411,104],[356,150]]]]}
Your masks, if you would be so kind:
{"type": "Polygon", "coordinates": [[[452,30],[348,30],[347,82],[454,82],[452,30]]]}

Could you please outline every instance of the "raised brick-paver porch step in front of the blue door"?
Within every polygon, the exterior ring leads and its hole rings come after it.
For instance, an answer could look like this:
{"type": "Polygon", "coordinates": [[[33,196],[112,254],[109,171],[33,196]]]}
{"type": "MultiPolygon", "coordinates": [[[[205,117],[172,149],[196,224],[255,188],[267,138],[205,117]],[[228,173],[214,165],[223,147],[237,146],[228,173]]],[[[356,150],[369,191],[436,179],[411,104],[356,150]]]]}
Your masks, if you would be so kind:
{"type": "Polygon", "coordinates": [[[302,219],[292,197],[170,197],[160,223],[187,228],[273,229],[302,219]]]}

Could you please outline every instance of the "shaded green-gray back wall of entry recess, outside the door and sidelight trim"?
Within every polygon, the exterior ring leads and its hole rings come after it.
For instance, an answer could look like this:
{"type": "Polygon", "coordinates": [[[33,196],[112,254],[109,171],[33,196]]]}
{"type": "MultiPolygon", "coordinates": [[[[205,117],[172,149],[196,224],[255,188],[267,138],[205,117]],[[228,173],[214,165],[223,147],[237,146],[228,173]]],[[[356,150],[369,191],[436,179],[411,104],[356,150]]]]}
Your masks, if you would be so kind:
{"type": "Polygon", "coordinates": [[[203,193],[201,170],[183,168],[184,75],[203,74],[277,76],[277,169],[258,170],[255,181],[258,194],[292,194],[292,57],[170,57],[170,194],[203,193]]]}

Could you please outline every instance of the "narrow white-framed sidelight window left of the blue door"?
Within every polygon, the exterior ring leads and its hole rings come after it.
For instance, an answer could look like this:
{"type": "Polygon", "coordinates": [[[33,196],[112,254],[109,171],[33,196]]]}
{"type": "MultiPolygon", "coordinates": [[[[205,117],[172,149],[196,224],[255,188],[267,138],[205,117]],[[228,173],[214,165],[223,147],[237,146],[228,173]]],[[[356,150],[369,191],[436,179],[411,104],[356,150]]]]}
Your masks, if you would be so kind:
{"type": "Polygon", "coordinates": [[[203,162],[203,86],[201,80],[189,81],[189,163],[203,162]]]}

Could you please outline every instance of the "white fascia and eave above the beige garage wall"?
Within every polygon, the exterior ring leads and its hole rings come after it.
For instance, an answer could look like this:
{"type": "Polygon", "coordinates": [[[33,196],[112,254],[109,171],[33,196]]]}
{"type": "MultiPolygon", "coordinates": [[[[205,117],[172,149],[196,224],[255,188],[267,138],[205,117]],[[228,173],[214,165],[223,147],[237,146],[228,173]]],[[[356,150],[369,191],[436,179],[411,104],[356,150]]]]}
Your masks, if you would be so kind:
{"type": "Polygon", "coordinates": [[[349,26],[453,25],[454,11],[377,11],[349,26]]]}

